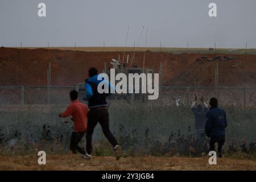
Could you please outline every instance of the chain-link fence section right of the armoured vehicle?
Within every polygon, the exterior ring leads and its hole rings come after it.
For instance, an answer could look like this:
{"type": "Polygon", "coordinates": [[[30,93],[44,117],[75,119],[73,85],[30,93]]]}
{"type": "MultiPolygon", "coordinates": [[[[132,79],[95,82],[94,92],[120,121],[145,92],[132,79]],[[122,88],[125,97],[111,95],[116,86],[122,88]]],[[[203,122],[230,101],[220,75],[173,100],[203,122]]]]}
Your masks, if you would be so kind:
{"type": "Polygon", "coordinates": [[[160,98],[163,101],[180,100],[183,105],[191,104],[195,95],[199,98],[204,97],[208,101],[211,97],[216,97],[221,105],[234,105],[243,108],[255,106],[256,88],[232,87],[232,86],[163,86],[160,98]]]}

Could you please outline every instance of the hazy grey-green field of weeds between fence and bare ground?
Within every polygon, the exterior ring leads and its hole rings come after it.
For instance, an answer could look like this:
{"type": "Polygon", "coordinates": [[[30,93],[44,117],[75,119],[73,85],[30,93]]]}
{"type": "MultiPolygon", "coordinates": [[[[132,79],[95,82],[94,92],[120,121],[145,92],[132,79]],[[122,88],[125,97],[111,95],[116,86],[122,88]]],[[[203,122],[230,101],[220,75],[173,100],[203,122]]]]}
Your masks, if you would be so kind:
{"type": "MultiPolygon", "coordinates": [[[[195,139],[195,119],[188,106],[151,101],[109,103],[110,129],[126,156],[199,156],[208,150],[208,140],[195,139]]],[[[69,119],[57,116],[63,109],[1,111],[0,155],[31,154],[36,147],[43,148],[47,154],[67,154],[72,122],[65,124],[63,121],[69,119]]],[[[255,109],[242,110],[234,106],[224,109],[228,118],[226,155],[242,152],[255,156],[255,109]]],[[[100,125],[94,130],[93,141],[94,155],[112,154],[100,125]]]]}

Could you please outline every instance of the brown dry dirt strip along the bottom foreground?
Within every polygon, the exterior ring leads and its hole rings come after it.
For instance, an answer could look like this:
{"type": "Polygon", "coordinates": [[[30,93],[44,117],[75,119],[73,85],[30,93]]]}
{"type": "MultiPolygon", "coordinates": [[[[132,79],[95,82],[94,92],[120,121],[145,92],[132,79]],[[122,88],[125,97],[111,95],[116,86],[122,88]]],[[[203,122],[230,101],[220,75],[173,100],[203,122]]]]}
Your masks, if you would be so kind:
{"type": "Polygon", "coordinates": [[[255,160],[217,159],[209,165],[208,158],[176,158],[142,156],[122,158],[97,157],[84,160],[81,155],[47,155],[47,164],[40,166],[38,156],[0,156],[0,170],[256,170],[255,160]]]}

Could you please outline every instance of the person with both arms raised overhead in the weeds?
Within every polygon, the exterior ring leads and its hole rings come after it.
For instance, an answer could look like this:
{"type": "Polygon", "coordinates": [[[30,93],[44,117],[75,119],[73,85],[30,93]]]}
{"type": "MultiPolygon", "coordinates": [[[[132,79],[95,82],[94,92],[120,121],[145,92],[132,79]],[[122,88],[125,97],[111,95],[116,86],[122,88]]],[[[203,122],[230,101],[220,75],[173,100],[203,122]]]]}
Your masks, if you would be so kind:
{"type": "Polygon", "coordinates": [[[204,97],[201,98],[201,104],[197,105],[197,96],[195,95],[195,100],[192,102],[191,110],[195,115],[195,129],[196,129],[196,139],[204,139],[204,127],[206,121],[206,114],[208,112],[208,105],[204,102],[204,97]]]}

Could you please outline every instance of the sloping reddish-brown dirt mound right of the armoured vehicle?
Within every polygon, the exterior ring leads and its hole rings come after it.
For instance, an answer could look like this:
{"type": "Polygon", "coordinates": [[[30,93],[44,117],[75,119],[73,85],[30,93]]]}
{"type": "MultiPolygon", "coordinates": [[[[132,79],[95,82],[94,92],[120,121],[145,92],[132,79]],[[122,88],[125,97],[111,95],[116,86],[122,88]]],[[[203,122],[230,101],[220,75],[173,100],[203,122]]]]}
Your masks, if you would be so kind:
{"type": "Polygon", "coordinates": [[[215,72],[218,63],[219,86],[256,86],[256,59],[255,56],[238,56],[229,61],[215,60],[213,62],[197,59],[189,65],[187,71],[180,73],[166,85],[177,86],[214,86],[215,72]]]}

